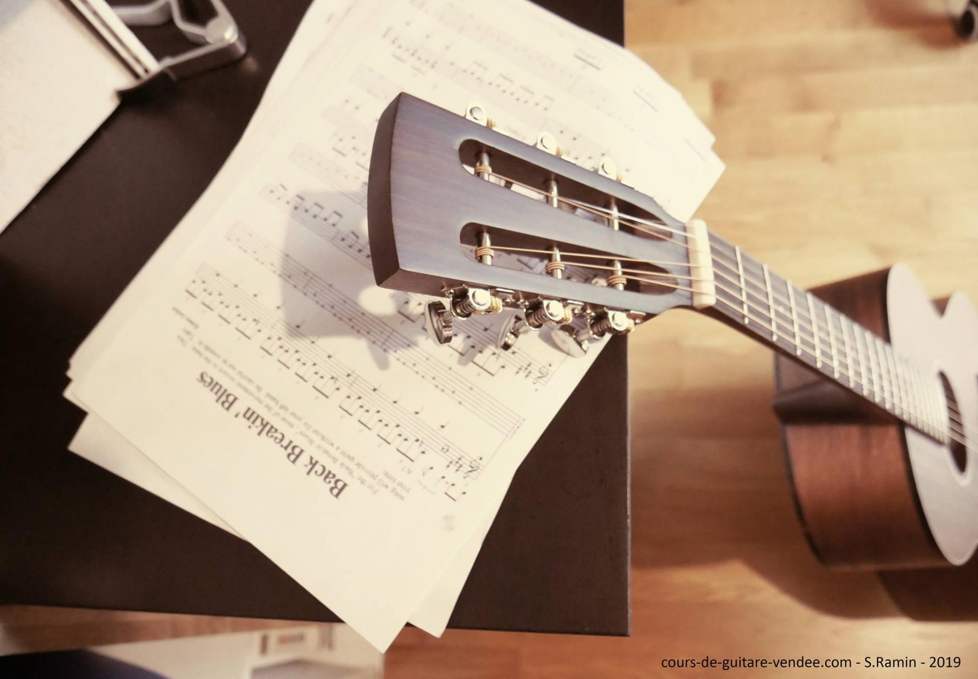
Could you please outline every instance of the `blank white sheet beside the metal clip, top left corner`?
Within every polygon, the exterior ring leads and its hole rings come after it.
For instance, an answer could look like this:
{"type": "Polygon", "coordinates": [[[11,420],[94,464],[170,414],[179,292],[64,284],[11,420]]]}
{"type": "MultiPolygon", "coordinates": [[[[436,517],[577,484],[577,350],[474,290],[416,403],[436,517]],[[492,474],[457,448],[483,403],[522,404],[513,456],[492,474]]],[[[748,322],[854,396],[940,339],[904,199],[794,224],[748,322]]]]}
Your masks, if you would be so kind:
{"type": "Polygon", "coordinates": [[[132,82],[59,0],[0,3],[0,232],[109,117],[115,91],[132,82]]]}

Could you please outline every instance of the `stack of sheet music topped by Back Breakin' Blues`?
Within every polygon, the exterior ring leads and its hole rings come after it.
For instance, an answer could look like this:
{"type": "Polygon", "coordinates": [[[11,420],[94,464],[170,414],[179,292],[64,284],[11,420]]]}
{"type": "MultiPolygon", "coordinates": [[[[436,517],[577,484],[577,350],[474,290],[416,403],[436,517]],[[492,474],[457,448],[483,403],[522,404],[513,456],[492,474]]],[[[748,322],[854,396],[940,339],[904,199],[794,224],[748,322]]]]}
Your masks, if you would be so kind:
{"type": "Polygon", "coordinates": [[[238,148],[74,355],[70,447],[249,540],[381,650],[406,620],[444,630],[597,354],[502,353],[483,319],[435,346],[424,300],[374,285],[367,168],[401,91],[611,156],[680,219],[723,169],[654,71],[528,2],[313,4],[238,148]]]}

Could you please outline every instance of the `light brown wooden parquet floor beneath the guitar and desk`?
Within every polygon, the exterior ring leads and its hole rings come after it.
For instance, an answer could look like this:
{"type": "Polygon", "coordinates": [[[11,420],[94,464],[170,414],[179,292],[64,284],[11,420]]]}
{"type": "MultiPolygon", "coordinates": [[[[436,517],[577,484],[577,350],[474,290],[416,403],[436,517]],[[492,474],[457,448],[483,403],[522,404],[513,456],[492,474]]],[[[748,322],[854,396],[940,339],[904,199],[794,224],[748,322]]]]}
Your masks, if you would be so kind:
{"type": "MultiPolygon", "coordinates": [[[[946,7],[628,2],[628,46],[683,91],[727,162],[699,215],[802,285],[903,261],[935,296],[978,299],[978,45],[956,39],[946,7]]],[[[943,654],[963,658],[959,673],[832,676],[978,676],[978,624],[908,620],[871,574],[826,571],[809,553],[768,352],[684,313],[631,343],[632,638],[405,630],[390,679],[701,676],[660,663],[707,654],[943,654]]]]}

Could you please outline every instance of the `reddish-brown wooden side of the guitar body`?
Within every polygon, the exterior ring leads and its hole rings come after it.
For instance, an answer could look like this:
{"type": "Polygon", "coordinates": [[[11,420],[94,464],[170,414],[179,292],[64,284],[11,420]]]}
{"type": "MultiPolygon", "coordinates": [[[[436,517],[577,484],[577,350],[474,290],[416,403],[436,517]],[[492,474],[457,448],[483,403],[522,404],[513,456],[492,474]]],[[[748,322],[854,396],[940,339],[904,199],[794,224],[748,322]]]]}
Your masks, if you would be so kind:
{"type": "MultiPolygon", "coordinates": [[[[888,276],[883,270],[813,292],[889,341],[888,276]]],[[[776,378],[775,406],[785,423],[793,494],[805,536],[819,560],[831,567],[870,570],[946,566],[912,483],[903,426],[872,423],[856,408],[853,417],[840,417],[824,406],[827,399],[814,403],[811,392],[843,390],[783,356],[776,360],[776,378]],[[786,406],[788,394],[808,396],[809,403],[799,400],[786,406]],[[821,410],[814,422],[808,417],[810,407],[821,410]]],[[[840,401],[849,401],[848,396],[843,393],[840,401]]]]}

